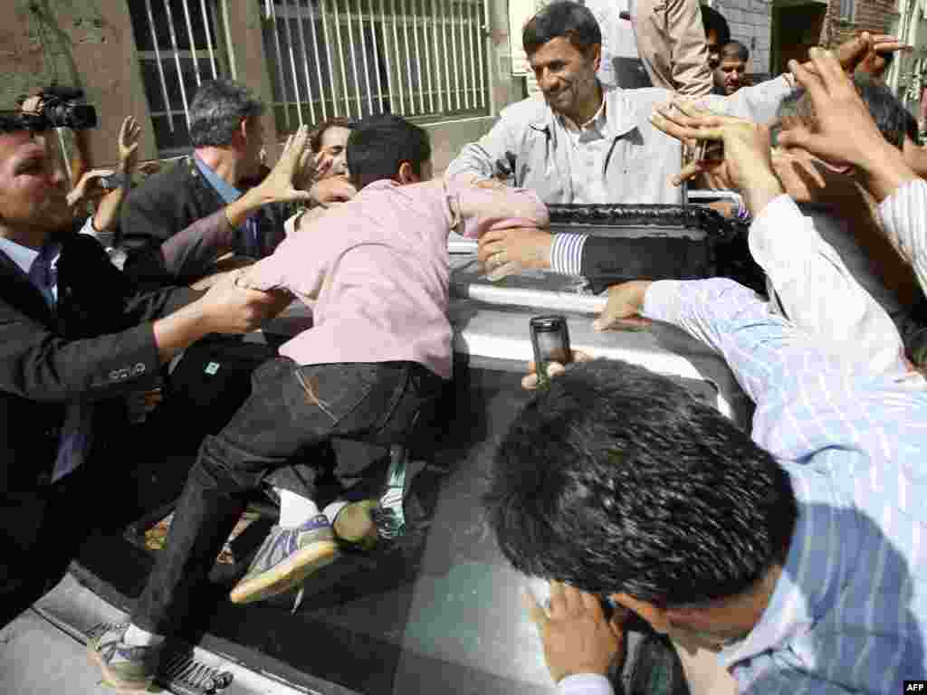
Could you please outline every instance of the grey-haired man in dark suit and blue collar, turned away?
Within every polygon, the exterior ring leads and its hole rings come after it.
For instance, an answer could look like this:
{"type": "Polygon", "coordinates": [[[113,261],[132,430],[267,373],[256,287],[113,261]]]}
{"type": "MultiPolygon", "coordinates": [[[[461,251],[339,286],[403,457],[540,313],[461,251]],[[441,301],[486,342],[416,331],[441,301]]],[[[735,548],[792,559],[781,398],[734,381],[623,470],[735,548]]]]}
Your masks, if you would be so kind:
{"type": "MultiPolygon", "coordinates": [[[[122,208],[125,271],[133,279],[149,286],[190,284],[215,272],[215,260],[228,252],[259,259],[270,255],[283,240],[284,221],[295,210],[276,204],[241,221],[228,243],[213,246],[202,264],[186,266],[182,274],[165,262],[162,251],[174,234],[235,202],[260,182],[267,172],[260,162],[263,111],[259,99],[230,80],[199,86],[189,108],[193,152],[138,186],[122,208]]],[[[347,182],[341,183],[340,191],[334,185],[314,186],[312,200],[324,204],[355,193],[347,182]]]]}

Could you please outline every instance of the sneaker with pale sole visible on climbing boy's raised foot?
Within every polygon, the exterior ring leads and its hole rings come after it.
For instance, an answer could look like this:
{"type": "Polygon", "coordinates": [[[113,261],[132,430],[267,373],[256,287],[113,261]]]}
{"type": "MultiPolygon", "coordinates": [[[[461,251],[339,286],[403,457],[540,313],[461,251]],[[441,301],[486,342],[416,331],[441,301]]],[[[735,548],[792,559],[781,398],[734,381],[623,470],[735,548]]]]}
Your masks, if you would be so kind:
{"type": "Polygon", "coordinates": [[[232,589],[232,602],[250,603],[296,588],[337,556],[338,544],[324,514],[296,528],[273,526],[248,574],[232,589]]]}

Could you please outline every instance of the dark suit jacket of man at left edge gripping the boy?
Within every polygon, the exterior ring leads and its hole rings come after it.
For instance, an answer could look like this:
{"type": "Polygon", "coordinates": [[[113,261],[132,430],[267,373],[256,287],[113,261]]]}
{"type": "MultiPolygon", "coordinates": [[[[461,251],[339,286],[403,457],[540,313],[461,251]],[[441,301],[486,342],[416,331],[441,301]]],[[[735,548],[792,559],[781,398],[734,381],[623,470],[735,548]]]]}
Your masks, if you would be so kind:
{"type": "MultiPolygon", "coordinates": [[[[187,288],[140,294],[94,238],[61,240],[54,310],[0,253],[0,600],[40,581],[23,558],[54,513],[50,480],[67,403],[95,403],[95,432],[122,429],[123,397],[159,372],[151,321],[199,297],[187,288]]],[[[107,436],[95,437],[87,461],[108,444],[107,436]]],[[[106,504],[102,493],[87,504],[106,504]]]]}

